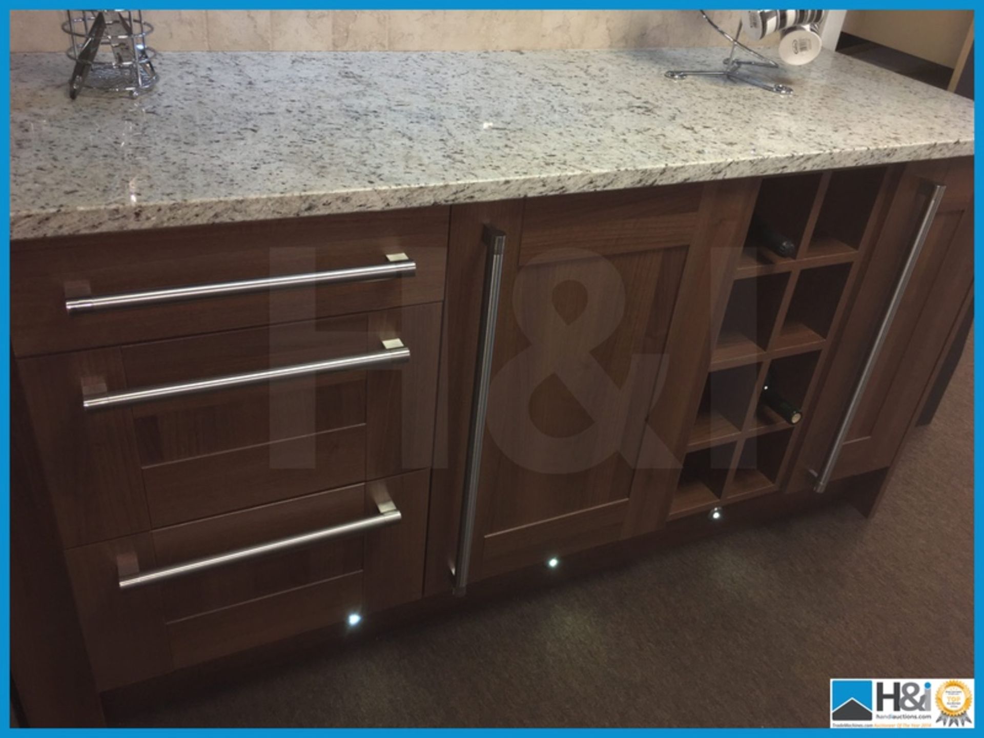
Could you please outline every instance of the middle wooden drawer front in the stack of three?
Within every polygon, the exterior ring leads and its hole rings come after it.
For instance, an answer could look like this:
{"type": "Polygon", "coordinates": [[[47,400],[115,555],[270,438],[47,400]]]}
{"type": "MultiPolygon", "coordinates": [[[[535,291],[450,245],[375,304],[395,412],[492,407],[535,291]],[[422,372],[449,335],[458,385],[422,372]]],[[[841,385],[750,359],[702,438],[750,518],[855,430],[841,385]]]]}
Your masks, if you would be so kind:
{"type": "Polygon", "coordinates": [[[429,467],[440,325],[441,304],[429,303],[21,359],[63,545],[429,467]],[[343,361],[398,338],[409,355],[399,362],[84,407],[343,361]]]}

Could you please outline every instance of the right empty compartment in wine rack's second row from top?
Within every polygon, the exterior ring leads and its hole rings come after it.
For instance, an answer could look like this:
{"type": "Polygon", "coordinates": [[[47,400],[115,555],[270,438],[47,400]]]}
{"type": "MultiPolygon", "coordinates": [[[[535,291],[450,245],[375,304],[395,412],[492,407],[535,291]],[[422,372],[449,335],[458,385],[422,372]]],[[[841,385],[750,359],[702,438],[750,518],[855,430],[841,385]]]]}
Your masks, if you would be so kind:
{"type": "Polygon", "coordinates": [[[850,264],[803,270],[773,347],[823,343],[830,333],[850,272],[850,264]]]}

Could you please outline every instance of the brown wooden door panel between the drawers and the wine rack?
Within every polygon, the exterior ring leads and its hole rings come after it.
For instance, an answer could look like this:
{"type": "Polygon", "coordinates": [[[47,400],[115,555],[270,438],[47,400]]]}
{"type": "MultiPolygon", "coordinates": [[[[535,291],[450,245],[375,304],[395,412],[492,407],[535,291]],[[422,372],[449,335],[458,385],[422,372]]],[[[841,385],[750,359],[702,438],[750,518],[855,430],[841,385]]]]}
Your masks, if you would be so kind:
{"type": "Polygon", "coordinates": [[[525,204],[502,280],[472,579],[635,532],[635,509],[657,494],[633,480],[653,444],[646,417],[673,394],[657,379],[684,319],[681,284],[700,273],[714,225],[750,206],[724,189],[525,204]]]}

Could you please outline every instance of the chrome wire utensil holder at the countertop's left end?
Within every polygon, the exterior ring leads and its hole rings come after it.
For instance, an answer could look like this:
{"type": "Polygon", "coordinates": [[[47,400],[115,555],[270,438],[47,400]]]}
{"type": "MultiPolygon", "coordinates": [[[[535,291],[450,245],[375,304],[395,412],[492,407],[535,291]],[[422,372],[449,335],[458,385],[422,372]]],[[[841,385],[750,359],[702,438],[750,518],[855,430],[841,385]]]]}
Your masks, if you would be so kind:
{"type": "MultiPolygon", "coordinates": [[[[147,45],[147,36],[154,26],[144,20],[139,10],[69,10],[62,24],[72,38],[66,51],[70,59],[88,66],[82,75],[82,87],[96,92],[137,96],[154,88],[157,72],[154,69],[156,52],[147,45]],[[102,21],[98,21],[101,17],[102,21]],[[93,31],[99,32],[96,40],[93,31]],[[93,53],[85,54],[87,41],[96,44],[93,53]]],[[[73,75],[73,84],[77,75],[73,75]]],[[[74,95],[73,95],[74,96],[74,95]]]]}

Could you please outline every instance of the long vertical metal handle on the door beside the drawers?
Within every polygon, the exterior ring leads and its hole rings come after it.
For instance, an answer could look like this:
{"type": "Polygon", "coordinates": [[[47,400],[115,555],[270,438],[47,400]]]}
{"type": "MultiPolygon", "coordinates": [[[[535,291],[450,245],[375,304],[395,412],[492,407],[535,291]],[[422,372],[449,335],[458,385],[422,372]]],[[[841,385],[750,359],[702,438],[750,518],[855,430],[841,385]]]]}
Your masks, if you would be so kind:
{"type": "Polygon", "coordinates": [[[482,317],[478,333],[478,354],[475,357],[474,397],[471,400],[471,424],[468,428],[468,455],[464,462],[464,497],[461,502],[458,556],[455,561],[455,594],[464,594],[471,565],[471,543],[475,534],[475,510],[478,504],[478,474],[482,466],[482,439],[485,436],[485,415],[489,403],[489,380],[492,375],[492,351],[495,347],[495,326],[499,313],[499,291],[502,286],[502,267],[506,258],[506,234],[488,225],[482,233],[488,247],[485,266],[485,286],[482,290],[482,317]]]}

